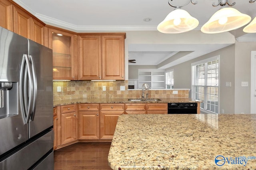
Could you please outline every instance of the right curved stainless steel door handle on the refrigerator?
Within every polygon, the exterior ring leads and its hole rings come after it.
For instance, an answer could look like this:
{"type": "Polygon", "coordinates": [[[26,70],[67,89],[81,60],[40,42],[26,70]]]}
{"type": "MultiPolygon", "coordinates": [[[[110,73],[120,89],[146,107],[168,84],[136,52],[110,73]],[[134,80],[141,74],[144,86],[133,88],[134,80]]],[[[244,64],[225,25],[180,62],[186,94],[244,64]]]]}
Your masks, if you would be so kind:
{"type": "Polygon", "coordinates": [[[37,80],[36,80],[36,69],[35,69],[34,59],[31,55],[29,55],[28,57],[30,58],[30,62],[31,62],[33,86],[34,86],[32,113],[31,113],[31,121],[33,121],[36,113],[37,80]]]}

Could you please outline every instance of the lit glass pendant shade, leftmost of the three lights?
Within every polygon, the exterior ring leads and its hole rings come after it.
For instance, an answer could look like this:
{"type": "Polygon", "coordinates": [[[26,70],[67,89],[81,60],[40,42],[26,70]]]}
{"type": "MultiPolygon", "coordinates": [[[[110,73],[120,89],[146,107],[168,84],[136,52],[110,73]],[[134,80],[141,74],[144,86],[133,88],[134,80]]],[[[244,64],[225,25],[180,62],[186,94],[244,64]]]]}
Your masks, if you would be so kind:
{"type": "Polygon", "coordinates": [[[157,30],[162,33],[184,33],[196,28],[199,21],[190,16],[188,12],[176,8],[166,18],[158,24],[157,30]]]}

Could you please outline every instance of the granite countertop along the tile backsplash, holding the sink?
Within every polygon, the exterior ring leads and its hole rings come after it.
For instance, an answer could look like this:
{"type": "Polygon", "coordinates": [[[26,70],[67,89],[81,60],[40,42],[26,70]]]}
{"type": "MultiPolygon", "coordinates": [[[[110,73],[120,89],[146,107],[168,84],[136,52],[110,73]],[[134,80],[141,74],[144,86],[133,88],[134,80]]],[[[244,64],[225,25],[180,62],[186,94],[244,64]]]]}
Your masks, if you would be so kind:
{"type": "Polygon", "coordinates": [[[62,106],[67,104],[79,104],[79,103],[194,103],[201,102],[199,100],[191,98],[160,98],[160,101],[139,101],[131,102],[128,98],[111,98],[111,99],[66,99],[66,100],[54,100],[53,107],[62,106]]]}

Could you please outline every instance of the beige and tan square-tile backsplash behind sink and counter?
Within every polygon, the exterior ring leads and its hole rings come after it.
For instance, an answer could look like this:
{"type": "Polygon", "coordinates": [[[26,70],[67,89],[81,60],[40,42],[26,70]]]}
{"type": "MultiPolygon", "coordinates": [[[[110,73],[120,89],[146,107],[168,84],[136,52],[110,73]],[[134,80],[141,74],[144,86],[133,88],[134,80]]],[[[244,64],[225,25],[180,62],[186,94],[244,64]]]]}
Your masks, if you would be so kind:
{"type": "MultiPolygon", "coordinates": [[[[77,99],[77,98],[141,98],[142,90],[127,90],[128,80],[124,81],[53,81],[53,100],[77,99]],[[57,92],[57,87],[61,92],[57,92]],[[102,90],[106,86],[106,91],[102,90]],[[125,86],[121,91],[120,86],[125,86]]],[[[175,89],[174,89],[175,90],[175,89]]],[[[148,98],[188,98],[189,90],[177,90],[178,94],[172,94],[173,90],[145,90],[148,98]]]]}

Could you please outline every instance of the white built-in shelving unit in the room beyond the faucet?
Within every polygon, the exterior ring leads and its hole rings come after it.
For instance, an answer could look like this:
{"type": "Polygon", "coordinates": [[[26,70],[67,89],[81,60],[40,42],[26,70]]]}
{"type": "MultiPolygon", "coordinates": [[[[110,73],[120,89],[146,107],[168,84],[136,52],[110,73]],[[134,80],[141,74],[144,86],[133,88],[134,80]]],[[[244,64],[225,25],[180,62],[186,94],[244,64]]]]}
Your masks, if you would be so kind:
{"type": "Polygon", "coordinates": [[[165,88],[165,70],[164,69],[139,69],[138,88],[142,88],[144,83],[148,84],[151,89],[165,88]]]}

